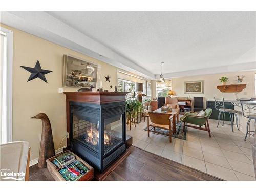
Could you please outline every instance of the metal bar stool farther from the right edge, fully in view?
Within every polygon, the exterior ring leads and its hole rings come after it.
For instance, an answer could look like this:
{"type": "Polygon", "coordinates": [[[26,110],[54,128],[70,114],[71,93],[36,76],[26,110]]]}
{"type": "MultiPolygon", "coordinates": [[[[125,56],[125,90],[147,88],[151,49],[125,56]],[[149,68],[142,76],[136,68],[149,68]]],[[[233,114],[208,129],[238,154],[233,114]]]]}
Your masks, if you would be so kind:
{"type": "MultiPolygon", "coordinates": [[[[236,117],[236,124],[238,127],[238,115],[237,115],[238,111],[225,108],[224,98],[222,99],[214,98],[214,100],[215,100],[215,109],[219,111],[217,127],[219,126],[219,123],[220,123],[221,113],[222,113],[222,126],[224,125],[224,122],[225,122],[225,114],[229,113],[232,132],[234,132],[234,117],[236,117]]],[[[238,130],[239,130],[239,127],[238,127],[238,130]]]]}

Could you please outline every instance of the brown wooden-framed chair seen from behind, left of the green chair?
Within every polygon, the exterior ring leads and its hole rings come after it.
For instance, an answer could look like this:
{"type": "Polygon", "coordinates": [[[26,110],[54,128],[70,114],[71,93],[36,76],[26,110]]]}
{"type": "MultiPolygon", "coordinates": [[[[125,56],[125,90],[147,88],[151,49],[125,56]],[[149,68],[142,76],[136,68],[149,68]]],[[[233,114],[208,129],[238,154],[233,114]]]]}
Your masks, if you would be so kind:
{"type": "Polygon", "coordinates": [[[173,135],[173,129],[172,129],[172,118],[174,115],[172,114],[163,114],[163,113],[156,113],[156,112],[148,112],[149,118],[147,118],[147,136],[150,136],[150,126],[154,127],[154,131],[151,130],[153,133],[159,133],[155,131],[155,127],[164,129],[164,130],[169,130],[168,134],[164,134],[169,136],[169,141],[170,143],[172,142],[172,135],[173,135]],[[150,121],[151,124],[150,124],[150,121]]]}

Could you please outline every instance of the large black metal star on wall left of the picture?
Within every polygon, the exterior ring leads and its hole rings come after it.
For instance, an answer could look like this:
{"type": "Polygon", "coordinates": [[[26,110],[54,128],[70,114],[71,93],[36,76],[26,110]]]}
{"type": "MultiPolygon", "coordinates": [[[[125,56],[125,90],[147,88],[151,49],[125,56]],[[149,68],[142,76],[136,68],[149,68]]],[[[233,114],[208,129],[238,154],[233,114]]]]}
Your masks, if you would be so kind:
{"type": "Polygon", "coordinates": [[[34,68],[25,67],[25,66],[20,66],[20,67],[26,69],[27,71],[29,71],[31,73],[28,81],[31,81],[31,80],[33,80],[33,79],[38,77],[39,79],[41,79],[41,80],[43,80],[43,81],[45,81],[47,83],[45,75],[47,73],[51,73],[52,72],[50,70],[42,69],[38,60],[37,60],[37,62],[35,64],[34,68]]]}

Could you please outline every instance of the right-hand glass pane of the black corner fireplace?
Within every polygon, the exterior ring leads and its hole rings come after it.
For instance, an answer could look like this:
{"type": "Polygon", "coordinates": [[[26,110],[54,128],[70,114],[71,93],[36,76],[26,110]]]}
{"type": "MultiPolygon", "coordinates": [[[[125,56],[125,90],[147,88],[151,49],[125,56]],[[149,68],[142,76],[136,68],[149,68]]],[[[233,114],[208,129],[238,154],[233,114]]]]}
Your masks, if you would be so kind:
{"type": "Polygon", "coordinates": [[[104,119],[104,155],[124,143],[123,114],[104,119]]]}

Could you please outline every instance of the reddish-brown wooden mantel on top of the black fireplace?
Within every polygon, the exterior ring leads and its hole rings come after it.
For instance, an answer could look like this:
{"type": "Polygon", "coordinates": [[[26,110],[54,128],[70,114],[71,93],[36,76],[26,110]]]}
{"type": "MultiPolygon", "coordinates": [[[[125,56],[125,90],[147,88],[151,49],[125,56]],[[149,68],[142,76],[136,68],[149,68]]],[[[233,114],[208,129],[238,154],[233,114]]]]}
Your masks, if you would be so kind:
{"type": "Polygon", "coordinates": [[[63,92],[66,101],[87,102],[93,104],[105,104],[125,101],[128,92],[63,92]]]}

